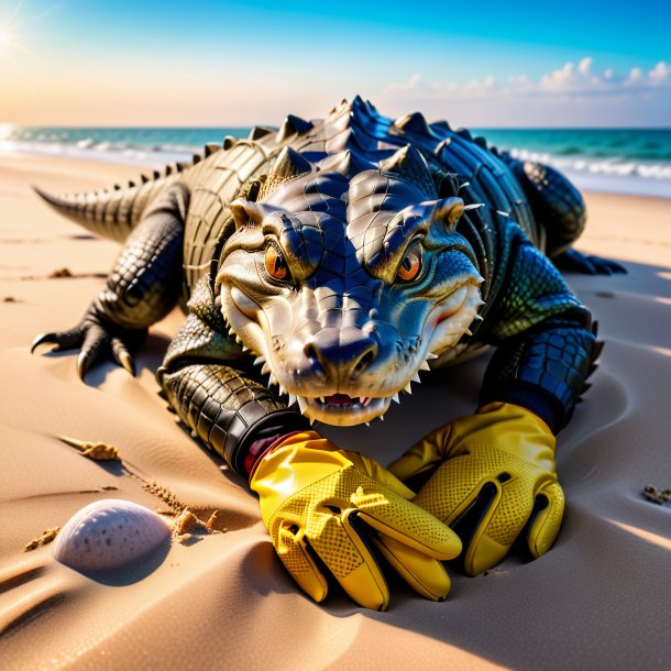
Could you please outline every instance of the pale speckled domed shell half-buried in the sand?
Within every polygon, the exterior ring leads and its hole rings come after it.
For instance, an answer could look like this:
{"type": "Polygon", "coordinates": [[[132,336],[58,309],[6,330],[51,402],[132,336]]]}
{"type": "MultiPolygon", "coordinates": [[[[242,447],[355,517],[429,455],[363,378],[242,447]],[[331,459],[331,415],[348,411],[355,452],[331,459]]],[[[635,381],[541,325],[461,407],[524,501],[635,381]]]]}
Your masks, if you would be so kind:
{"type": "Polygon", "coordinates": [[[160,515],[130,501],[106,498],[81,508],[61,529],[54,557],[78,571],[124,566],[170,538],[160,515]]]}

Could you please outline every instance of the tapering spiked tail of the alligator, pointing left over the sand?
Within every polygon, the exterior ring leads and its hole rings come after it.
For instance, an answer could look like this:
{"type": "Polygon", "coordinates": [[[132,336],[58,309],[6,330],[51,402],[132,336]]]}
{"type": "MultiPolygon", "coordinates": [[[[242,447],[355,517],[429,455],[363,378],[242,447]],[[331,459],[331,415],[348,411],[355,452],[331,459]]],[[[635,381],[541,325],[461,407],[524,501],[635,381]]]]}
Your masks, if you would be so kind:
{"type": "MultiPolygon", "coordinates": [[[[179,169],[179,168],[178,168],[179,169]]],[[[168,186],[179,178],[168,167],[153,178],[142,176],[142,183],[114,186],[112,190],[80,194],[47,194],[33,186],[33,189],[57,212],[72,219],[96,235],[123,242],[138,226],[146,207],[168,186]]]]}

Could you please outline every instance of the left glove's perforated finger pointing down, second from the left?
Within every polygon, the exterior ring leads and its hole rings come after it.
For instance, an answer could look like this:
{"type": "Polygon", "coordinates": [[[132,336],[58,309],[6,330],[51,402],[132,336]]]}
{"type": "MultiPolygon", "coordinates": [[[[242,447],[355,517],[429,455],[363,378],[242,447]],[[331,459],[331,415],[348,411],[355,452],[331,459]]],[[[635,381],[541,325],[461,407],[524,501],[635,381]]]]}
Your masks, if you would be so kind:
{"type": "Polygon", "coordinates": [[[349,508],[342,515],[322,519],[319,534],[310,546],[333,574],[352,601],[364,608],[386,610],[389,588],[369,547],[365,525],[358,510],[349,508]]]}

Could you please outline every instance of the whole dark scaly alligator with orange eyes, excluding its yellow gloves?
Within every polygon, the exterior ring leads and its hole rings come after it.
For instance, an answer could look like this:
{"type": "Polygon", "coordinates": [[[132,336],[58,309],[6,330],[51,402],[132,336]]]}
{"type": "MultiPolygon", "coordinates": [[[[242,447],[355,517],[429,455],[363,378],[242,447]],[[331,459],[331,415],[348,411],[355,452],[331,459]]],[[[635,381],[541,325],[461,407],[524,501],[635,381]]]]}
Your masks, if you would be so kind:
{"type": "Polygon", "coordinates": [[[558,266],[622,270],[572,249],[585,207],[552,167],[360,97],[138,184],[37,193],[124,248],[81,322],[33,350],[80,348],[81,377],[109,356],[133,373],[147,328],[182,305],[158,384],[242,475],[260,441],[382,418],[421,371],[490,345],[480,405],[557,433],[603,346],[558,266]]]}

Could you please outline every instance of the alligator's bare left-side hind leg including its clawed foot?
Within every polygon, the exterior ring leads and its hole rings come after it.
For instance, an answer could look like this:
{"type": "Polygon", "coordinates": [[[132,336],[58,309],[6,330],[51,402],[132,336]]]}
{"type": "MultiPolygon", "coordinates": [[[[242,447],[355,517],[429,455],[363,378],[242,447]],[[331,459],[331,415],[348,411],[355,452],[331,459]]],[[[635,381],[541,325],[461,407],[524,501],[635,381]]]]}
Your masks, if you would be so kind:
{"type": "Polygon", "coordinates": [[[184,198],[182,193],[172,191],[128,238],[105,289],[81,321],[67,331],[37,336],[31,351],[42,343],[55,344],[56,350],[80,348],[77,373],[82,380],[94,363],[110,355],[134,374],[130,352],[179,297],[183,242],[184,198]]]}

